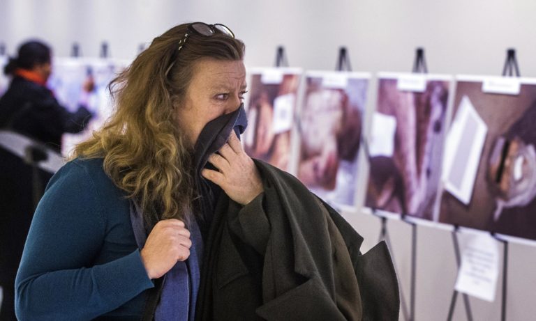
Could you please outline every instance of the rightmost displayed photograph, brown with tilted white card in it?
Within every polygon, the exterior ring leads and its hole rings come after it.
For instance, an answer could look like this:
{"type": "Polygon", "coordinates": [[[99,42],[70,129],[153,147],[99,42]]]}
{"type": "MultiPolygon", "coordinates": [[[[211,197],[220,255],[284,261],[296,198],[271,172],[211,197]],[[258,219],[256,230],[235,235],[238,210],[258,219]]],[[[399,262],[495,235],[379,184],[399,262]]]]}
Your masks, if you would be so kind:
{"type": "Polygon", "coordinates": [[[536,240],[536,79],[458,77],[439,221],[536,240]]]}

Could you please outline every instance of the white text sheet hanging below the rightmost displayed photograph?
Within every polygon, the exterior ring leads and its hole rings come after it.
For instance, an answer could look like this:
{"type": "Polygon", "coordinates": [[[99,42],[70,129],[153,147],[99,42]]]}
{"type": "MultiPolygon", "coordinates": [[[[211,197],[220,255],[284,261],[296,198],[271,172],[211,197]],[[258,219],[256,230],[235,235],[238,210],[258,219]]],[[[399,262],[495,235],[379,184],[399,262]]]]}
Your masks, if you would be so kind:
{"type": "Polygon", "coordinates": [[[461,233],[461,265],[454,288],[458,292],[493,302],[499,275],[497,241],[489,234],[461,233]]]}

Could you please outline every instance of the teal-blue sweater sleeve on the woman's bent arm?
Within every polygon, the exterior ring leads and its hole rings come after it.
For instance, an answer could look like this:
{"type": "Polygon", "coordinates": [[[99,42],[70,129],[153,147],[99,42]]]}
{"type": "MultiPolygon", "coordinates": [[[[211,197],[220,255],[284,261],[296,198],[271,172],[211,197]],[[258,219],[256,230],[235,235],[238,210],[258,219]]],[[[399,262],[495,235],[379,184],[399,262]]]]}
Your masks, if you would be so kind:
{"type": "Polygon", "coordinates": [[[68,163],[32,221],[15,281],[19,320],[91,320],[153,287],[140,252],[93,265],[106,221],[87,171],[68,163]]]}

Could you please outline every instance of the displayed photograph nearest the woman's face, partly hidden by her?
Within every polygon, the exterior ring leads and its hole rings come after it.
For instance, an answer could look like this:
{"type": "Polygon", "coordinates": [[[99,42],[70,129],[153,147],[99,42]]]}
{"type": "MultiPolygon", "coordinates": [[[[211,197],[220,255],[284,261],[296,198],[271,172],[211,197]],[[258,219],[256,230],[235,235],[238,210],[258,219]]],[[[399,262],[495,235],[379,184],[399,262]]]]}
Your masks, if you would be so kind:
{"type": "Polygon", "coordinates": [[[301,70],[295,68],[263,68],[251,70],[248,82],[244,150],[283,171],[290,166],[300,77],[301,70]]]}

